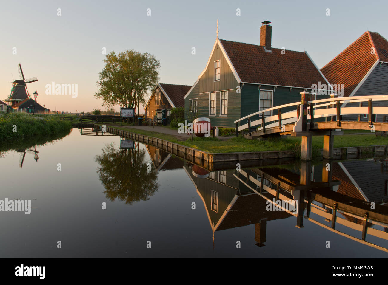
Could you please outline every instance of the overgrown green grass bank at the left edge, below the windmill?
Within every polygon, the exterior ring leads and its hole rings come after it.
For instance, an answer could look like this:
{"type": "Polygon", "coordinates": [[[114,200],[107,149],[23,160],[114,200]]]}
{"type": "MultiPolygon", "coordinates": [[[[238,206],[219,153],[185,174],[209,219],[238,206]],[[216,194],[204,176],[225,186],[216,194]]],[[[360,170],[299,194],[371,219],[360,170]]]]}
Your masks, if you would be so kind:
{"type": "Polygon", "coordinates": [[[31,115],[25,113],[0,116],[0,144],[28,140],[33,137],[55,136],[69,132],[71,122],[58,115],[31,115]]]}

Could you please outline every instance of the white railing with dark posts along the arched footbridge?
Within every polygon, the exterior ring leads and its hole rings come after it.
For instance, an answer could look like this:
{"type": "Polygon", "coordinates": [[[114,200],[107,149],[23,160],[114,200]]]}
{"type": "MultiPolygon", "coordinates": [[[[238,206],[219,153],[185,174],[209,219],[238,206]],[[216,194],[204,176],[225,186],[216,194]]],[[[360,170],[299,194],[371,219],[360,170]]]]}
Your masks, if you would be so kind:
{"type": "MultiPolygon", "coordinates": [[[[257,130],[263,130],[267,128],[273,128],[279,126],[279,129],[286,124],[298,123],[306,126],[307,120],[310,120],[310,126],[314,124],[315,118],[322,117],[333,117],[336,116],[336,121],[338,126],[340,126],[340,117],[341,115],[360,115],[360,114],[369,114],[368,119],[369,123],[372,124],[372,115],[374,114],[388,114],[388,107],[373,107],[372,102],[376,101],[386,101],[388,100],[388,95],[368,95],[368,96],[353,96],[353,97],[339,97],[334,98],[335,94],[331,94],[331,98],[319,99],[319,100],[308,100],[312,93],[301,92],[301,101],[294,102],[290,104],[284,104],[268,108],[262,111],[252,113],[248,116],[242,117],[234,123],[236,124],[236,136],[238,132],[248,129],[249,135],[251,134],[251,128],[255,126],[260,127],[257,130]],[[349,102],[359,102],[359,107],[341,107],[342,104],[349,102]],[[368,102],[367,107],[362,107],[362,102],[368,102]],[[289,108],[296,106],[296,110],[288,111],[282,113],[281,110],[284,108],[289,108]],[[265,116],[266,112],[277,110],[276,115],[265,116]],[[313,116],[311,116],[311,113],[313,116]],[[251,121],[253,116],[259,116],[260,119],[251,121]],[[241,121],[247,119],[247,123],[238,125],[241,121]]],[[[305,127],[302,127],[305,131],[305,127]]]]}

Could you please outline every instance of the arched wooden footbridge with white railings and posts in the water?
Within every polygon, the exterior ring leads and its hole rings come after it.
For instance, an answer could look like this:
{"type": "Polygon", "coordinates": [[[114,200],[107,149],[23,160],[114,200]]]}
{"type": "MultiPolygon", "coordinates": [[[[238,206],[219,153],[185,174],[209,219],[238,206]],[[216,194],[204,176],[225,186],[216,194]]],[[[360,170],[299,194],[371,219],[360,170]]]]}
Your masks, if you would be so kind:
{"type": "Polygon", "coordinates": [[[244,135],[246,138],[259,138],[268,135],[291,135],[301,136],[301,159],[311,160],[312,136],[324,136],[323,156],[326,159],[333,158],[333,136],[342,135],[340,129],[388,131],[388,123],[385,116],[388,116],[388,107],[373,106],[374,102],[387,101],[388,95],[370,95],[308,100],[312,93],[301,92],[301,101],[276,107],[268,108],[242,117],[234,123],[236,124],[236,136],[239,131],[248,129],[244,135]],[[345,103],[359,103],[359,107],[342,107],[345,103]],[[367,102],[367,107],[362,107],[362,102],[367,102]],[[295,106],[296,109],[282,113],[281,110],[295,106]],[[265,116],[266,112],[271,113],[277,110],[273,116],[265,116]],[[368,114],[368,121],[361,121],[361,115],[368,114]],[[357,115],[357,121],[342,121],[343,115],[357,115]],[[383,115],[383,122],[374,121],[375,115],[383,115]],[[251,121],[252,117],[260,117],[251,121]],[[335,120],[334,120],[335,118],[335,120]],[[247,121],[241,124],[242,121],[247,121]],[[317,120],[317,121],[316,121],[317,120]],[[239,126],[240,123],[240,126],[239,126]],[[253,127],[257,127],[252,131],[253,127]]]}

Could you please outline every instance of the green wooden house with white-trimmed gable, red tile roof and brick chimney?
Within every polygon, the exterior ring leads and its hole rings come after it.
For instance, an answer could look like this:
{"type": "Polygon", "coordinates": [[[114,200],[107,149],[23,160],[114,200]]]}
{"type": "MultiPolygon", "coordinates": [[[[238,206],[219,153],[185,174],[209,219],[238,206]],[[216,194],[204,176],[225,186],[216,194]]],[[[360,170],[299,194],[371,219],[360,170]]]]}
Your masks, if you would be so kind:
{"type": "MultiPolygon", "coordinates": [[[[206,67],[184,97],[186,119],[207,117],[213,126],[233,128],[241,117],[299,101],[302,91],[329,89],[307,52],[272,48],[271,36],[268,21],[262,22],[260,45],[221,40],[217,30],[206,67]]],[[[318,93],[317,99],[329,98],[329,92],[318,93]]]]}

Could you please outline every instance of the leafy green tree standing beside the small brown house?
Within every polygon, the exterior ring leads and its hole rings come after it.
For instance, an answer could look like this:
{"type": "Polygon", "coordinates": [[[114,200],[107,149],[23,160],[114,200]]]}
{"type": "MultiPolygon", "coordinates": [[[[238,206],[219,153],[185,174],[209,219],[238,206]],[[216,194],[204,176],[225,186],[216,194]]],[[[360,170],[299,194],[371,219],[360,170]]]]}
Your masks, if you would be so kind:
{"type": "Polygon", "coordinates": [[[139,114],[139,105],[145,104],[146,93],[158,84],[159,60],[148,53],[126,50],[118,55],[114,52],[107,54],[104,62],[105,67],[97,81],[99,92],[95,97],[102,99],[106,107],[137,107],[139,114]]]}

